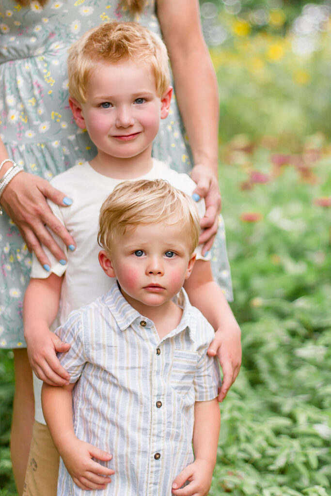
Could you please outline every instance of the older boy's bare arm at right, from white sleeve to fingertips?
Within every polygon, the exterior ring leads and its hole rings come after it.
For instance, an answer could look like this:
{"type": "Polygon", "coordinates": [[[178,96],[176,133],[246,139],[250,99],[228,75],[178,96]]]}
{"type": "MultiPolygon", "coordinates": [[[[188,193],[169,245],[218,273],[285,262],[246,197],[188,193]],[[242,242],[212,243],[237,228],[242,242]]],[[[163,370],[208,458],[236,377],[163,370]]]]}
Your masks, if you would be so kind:
{"type": "Polygon", "coordinates": [[[223,291],[213,280],[210,262],[197,260],[192,274],[185,281],[190,302],[197,307],[215,329],[208,355],[217,355],[223,371],[218,401],[223,401],[241,366],[241,332],[223,291]]]}

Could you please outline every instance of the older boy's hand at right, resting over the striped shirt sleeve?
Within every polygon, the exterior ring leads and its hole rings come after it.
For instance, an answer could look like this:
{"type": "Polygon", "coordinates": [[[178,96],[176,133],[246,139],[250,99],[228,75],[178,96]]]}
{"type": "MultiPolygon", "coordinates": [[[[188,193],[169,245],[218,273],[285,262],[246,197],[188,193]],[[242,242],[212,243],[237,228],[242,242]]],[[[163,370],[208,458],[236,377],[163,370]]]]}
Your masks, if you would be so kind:
{"type": "Polygon", "coordinates": [[[226,393],[236,380],[241,366],[241,331],[235,318],[224,328],[215,332],[208,348],[209,357],[217,355],[223,371],[222,387],[218,391],[218,401],[223,401],[226,393]]]}

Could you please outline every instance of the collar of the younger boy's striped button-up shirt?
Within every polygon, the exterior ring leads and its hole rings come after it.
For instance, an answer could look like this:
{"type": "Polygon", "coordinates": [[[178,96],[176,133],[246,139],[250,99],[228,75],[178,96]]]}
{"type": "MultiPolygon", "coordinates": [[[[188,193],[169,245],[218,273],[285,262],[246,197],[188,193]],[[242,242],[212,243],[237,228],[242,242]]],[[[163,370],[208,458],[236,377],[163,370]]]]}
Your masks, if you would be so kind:
{"type": "MultiPolygon", "coordinates": [[[[143,319],[147,322],[147,325],[152,325],[151,320],[141,315],[137,310],[134,310],[130,303],[127,302],[121,293],[117,281],[103,298],[121,331],[127,329],[135,320],[139,320],[140,322],[143,319]]],[[[174,296],[173,301],[183,309],[183,315],[180,323],[176,329],[171,332],[171,334],[177,334],[185,328],[188,328],[191,338],[195,340],[194,338],[197,332],[197,318],[193,315],[193,307],[190,304],[186,291],[182,288],[181,291],[174,296]]]]}

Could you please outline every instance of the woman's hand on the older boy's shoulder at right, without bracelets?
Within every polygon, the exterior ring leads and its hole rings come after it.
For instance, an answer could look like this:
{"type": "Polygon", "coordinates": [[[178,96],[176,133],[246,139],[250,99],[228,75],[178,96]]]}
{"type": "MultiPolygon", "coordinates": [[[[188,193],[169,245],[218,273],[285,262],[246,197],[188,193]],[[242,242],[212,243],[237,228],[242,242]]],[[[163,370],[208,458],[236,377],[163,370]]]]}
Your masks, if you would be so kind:
{"type": "Polygon", "coordinates": [[[199,194],[204,198],[206,211],[200,221],[203,233],[200,235],[199,244],[204,243],[203,254],[208,251],[217,233],[218,215],[221,211],[221,194],[219,192],[218,180],[212,170],[202,164],[197,164],[191,172],[191,178],[197,183],[193,194],[199,194]]]}

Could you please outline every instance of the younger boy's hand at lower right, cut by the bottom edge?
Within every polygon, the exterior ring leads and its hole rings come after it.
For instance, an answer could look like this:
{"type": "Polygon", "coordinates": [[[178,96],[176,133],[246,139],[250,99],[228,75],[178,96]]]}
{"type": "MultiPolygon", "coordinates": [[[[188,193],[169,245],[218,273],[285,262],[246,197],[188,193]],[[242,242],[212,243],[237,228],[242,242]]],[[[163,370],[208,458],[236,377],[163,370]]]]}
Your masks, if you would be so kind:
{"type": "Polygon", "coordinates": [[[213,466],[209,461],[197,459],[176,477],[172,483],[172,493],[176,496],[207,496],[213,472],[213,466]],[[188,486],[181,488],[187,481],[188,486]]]}

